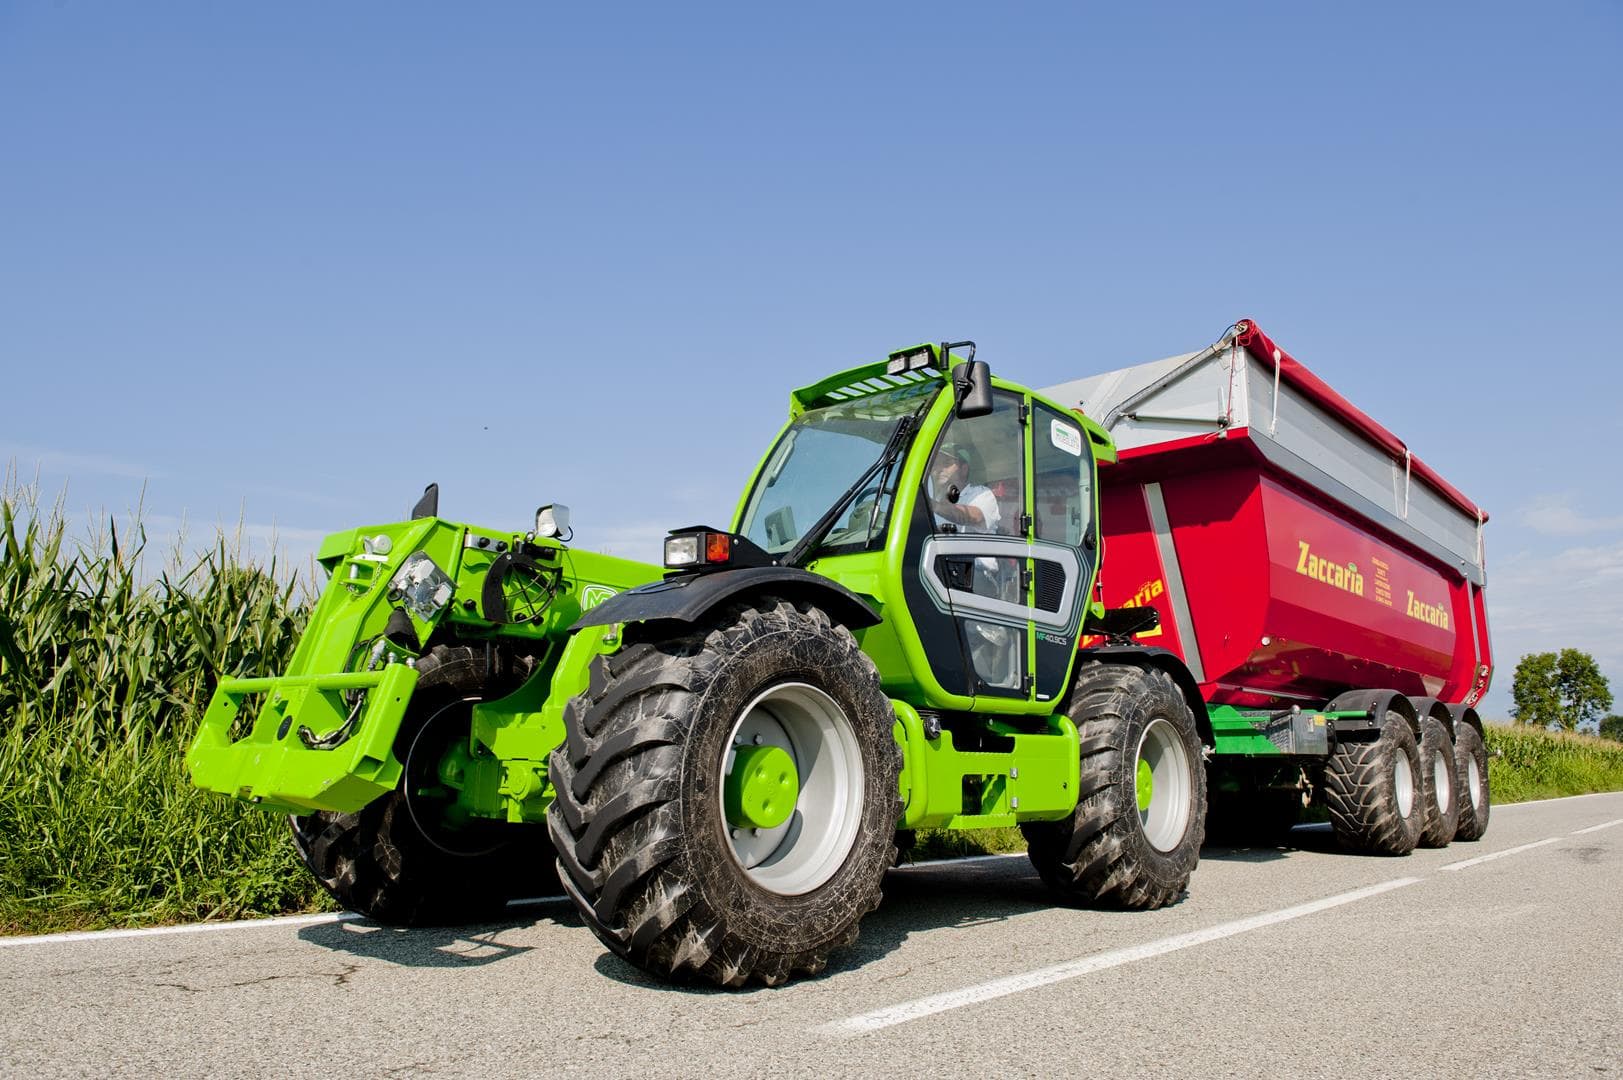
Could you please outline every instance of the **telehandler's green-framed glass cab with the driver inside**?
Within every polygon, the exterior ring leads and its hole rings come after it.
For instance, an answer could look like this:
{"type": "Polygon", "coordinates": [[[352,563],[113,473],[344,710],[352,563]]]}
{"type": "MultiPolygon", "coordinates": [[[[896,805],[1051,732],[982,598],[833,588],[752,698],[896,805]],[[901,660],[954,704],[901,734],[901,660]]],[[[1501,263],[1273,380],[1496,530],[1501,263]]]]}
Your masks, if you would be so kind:
{"type": "Polygon", "coordinates": [[[917,346],[794,391],[732,536],[758,565],[813,570],[872,604],[883,622],[863,650],[894,697],[1047,715],[1097,564],[1096,458],[1113,450],[961,344],[966,357],[917,346]]]}

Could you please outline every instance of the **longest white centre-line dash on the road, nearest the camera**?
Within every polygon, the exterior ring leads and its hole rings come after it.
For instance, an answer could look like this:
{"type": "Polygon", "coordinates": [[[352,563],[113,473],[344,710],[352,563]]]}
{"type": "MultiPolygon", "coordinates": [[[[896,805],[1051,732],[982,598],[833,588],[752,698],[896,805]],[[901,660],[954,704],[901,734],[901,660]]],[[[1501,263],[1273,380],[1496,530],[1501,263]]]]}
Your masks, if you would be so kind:
{"type": "Polygon", "coordinates": [[[1394,888],[1402,888],[1404,885],[1414,885],[1419,880],[1420,880],[1419,877],[1397,877],[1389,882],[1381,882],[1380,885],[1355,888],[1350,893],[1326,896],[1324,900],[1315,900],[1311,903],[1297,905],[1294,908],[1282,908],[1279,911],[1269,911],[1266,914],[1253,914],[1248,919],[1220,922],[1217,926],[1209,926],[1203,931],[1191,931],[1188,934],[1164,937],[1159,942],[1146,942],[1143,945],[1113,948],[1110,952],[1096,953],[1092,957],[1083,957],[1079,960],[1057,963],[1052,968],[1037,968],[1035,971],[1024,971],[1021,974],[1011,974],[1001,979],[992,979],[990,983],[980,983],[979,986],[966,986],[958,991],[946,991],[945,994],[932,994],[930,997],[920,997],[917,1000],[902,1002],[899,1005],[889,1005],[886,1009],[878,1009],[875,1012],[865,1012],[860,1017],[847,1017],[846,1020],[836,1020],[833,1023],[826,1023],[815,1030],[821,1031],[823,1035],[844,1035],[844,1036],[862,1035],[865,1031],[878,1031],[881,1028],[896,1026],[898,1023],[907,1023],[909,1020],[919,1020],[920,1017],[930,1017],[938,1012],[962,1009],[964,1005],[977,1005],[980,1002],[993,1000],[997,997],[1019,994],[1021,991],[1031,991],[1040,986],[1052,986],[1053,983],[1063,983],[1066,979],[1092,974],[1094,971],[1118,968],[1121,965],[1134,963],[1138,960],[1149,960],[1152,957],[1164,957],[1165,953],[1178,952],[1180,948],[1193,948],[1195,945],[1204,945],[1208,942],[1214,942],[1224,937],[1233,937],[1235,934],[1245,934],[1246,931],[1256,931],[1264,926],[1274,926],[1277,922],[1289,922],[1290,919],[1300,919],[1308,914],[1318,914],[1319,911],[1328,911],[1331,908],[1339,908],[1341,905],[1355,903],[1358,900],[1367,900],[1370,896],[1378,896],[1394,888]]]}

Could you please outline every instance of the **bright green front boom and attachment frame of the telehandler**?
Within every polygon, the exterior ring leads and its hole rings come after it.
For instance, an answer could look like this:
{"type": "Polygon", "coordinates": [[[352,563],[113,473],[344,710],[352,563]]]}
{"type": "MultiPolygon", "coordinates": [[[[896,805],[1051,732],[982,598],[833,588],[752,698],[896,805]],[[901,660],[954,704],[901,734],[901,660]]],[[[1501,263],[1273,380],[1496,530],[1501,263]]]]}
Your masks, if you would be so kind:
{"type": "Polygon", "coordinates": [[[523,648],[536,671],[516,693],[476,708],[471,739],[441,762],[440,780],[458,791],[463,814],[537,820],[549,801],[547,754],[563,737],[562,710],[544,718],[540,706],[570,627],[583,609],[661,575],[557,539],[441,518],[336,533],[316,560],[329,580],[287,671],[216,687],[187,754],[200,788],[289,814],[354,812],[393,791],[403,770],[394,739],[417,684],[415,661],[430,642],[450,638],[523,648]],[[453,591],[438,611],[414,614],[391,581],[419,552],[453,591]],[[527,555],[536,570],[498,570],[500,607],[487,611],[492,570],[513,554],[527,555]],[[411,630],[390,640],[383,633],[396,611],[411,630]]]}

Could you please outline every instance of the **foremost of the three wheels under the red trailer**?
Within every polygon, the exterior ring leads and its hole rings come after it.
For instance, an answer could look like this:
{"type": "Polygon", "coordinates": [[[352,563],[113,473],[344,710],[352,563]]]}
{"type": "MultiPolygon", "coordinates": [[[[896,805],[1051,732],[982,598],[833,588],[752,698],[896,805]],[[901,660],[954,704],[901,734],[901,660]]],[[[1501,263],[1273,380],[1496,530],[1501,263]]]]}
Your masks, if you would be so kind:
{"type": "Polygon", "coordinates": [[[1324,806],[1349,851],[1409,854],[1425,825],[1420,749],[1402,713],[1388,711],[1373,742],[1337,742],[1324,765],[1324,806]]]}

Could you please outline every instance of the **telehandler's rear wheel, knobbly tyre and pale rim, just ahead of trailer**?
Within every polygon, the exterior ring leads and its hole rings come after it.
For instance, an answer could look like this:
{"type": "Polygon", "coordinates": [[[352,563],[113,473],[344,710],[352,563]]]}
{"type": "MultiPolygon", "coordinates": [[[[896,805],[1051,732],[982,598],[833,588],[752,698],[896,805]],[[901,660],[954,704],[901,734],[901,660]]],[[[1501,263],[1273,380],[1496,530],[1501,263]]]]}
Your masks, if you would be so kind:
{"type": "Polygon", "coordinates": [[[1065,820],[1021,827],[1037,874],[1076,903],[1178,900],[1206,817],[1199,734],[1178,685],[1154,667],[1086,663],[1065,713],[1081,736],[1079,799],[1065,820]]]}

